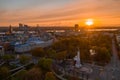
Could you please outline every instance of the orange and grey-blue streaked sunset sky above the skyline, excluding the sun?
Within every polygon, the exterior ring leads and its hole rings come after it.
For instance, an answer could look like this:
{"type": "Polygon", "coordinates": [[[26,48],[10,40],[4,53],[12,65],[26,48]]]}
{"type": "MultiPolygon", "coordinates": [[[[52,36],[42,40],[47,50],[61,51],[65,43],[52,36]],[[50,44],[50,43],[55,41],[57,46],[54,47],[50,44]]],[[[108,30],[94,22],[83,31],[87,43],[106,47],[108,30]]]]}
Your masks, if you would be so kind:
{"type": "Polygon", "coordinates": [[[120,26],[119,0],[0,0],[0,26],[120,26]]]}

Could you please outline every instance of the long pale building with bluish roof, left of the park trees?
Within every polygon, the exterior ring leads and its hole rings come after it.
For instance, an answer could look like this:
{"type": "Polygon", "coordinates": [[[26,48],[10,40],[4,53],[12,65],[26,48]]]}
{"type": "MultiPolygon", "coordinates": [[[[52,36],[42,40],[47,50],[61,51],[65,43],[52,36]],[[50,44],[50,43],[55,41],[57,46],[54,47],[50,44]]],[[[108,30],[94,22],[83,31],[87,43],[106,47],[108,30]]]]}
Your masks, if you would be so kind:
{"type": "Polygon", "coordinates": [[[22,53],[28,52],[37,47],[47,47],[53,43],[53,39],[48,41],[43,41],[38,37],[29,38],[25,44],[18,44],[15,46],[15,52],[22,53]]]}

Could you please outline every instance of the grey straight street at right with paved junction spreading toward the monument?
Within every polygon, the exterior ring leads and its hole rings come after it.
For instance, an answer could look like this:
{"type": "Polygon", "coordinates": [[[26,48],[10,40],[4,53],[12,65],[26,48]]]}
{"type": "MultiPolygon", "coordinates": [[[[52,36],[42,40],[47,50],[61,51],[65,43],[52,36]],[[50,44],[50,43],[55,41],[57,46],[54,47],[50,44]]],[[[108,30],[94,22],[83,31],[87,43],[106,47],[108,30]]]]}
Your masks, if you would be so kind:
{"type": "Polygon", "coordinates": [[[120,61],[117,56],[117,49],[114,39],[112,39],[112,58],[105,67],[93,66],[92,79],[99,80],[120,80],[120,61]]]}

